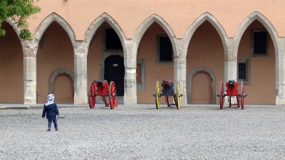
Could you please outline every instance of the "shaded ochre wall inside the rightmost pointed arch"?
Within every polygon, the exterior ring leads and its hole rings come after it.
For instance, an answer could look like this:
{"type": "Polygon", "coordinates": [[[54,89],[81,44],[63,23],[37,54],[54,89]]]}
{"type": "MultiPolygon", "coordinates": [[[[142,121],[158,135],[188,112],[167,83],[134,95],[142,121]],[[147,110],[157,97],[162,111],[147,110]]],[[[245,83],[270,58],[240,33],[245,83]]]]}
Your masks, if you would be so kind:
{"type": "Polygon", "coordinates": [[[244,32],[239,43],[238,57],[250,58],[250,85],[245,86],[247,104],[275,104],[275,53],[272,39],[269,38],[269,55],[254,57],[251,55],[251,31],[263,29],[259,21],[254,21],[244,32]]]}

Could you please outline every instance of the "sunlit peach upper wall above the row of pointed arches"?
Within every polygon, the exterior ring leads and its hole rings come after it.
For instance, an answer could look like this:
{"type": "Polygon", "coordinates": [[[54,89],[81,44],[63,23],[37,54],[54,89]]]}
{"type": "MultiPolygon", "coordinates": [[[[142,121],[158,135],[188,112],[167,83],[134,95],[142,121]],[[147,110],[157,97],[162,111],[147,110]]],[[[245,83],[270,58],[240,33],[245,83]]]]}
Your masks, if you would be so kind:
{"type": "Polygon", "coordinates": [[[284,0],[43,0],[36,2],[36,5],[41,7],[41,13],[31,18],[31,32],[36,31],[46,16],[56,13],[73,28],[79,41],[84,39],[90,23],[103,13],[115,19],[127,38],[133,38],[138,26],[152,14],[165,19],[176,38],[183,38],[193,21],[206,12],[217,18],[228,37],[234,37],[242,21],[254,11],[270,19],[279,36],[285,36],[285,23],[279,21],[280,16],[285,14],[284,0]]]}

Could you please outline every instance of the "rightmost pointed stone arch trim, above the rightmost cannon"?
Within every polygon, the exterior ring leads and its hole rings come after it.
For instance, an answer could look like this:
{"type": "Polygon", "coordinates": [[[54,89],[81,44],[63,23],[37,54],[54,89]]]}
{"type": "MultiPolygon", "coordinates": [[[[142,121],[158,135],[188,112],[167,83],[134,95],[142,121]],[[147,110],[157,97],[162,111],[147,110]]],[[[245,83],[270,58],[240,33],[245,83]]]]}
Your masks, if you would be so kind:
{"type": "Polygon", "coordinates": [[[242,36],[244,35],[244,32],[247,30],[249,25],[255,20],[259,21],[266,28],[273,41],[275,53],[278,54],[279,50],[279,47],[277,45],[277,40],[279,38],[278,33],[276,32],[276,29],[274,28],[272,23],[259,11],[254,11],[252,14],[249,14],[249,16],[247,16],[247,18],[245,18],[244,21],[242,21],[242,23],[239,25],[239,28],[237,28],[237,32],[234,35],[234,41],[236,42],[235,48],[236,49],[239,48],[239,43],[242,39],[242,36]]]}

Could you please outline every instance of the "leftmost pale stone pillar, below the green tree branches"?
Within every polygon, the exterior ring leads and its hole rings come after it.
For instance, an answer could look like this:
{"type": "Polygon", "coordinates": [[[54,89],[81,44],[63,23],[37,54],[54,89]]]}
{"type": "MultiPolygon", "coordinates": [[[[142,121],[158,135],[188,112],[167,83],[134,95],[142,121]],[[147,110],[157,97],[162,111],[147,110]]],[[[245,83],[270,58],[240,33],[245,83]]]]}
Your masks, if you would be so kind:
{"type": "Polygon", "coordinates": [[[24,41],[24,105],[36,104],[36,51],[35,42],[24,41]]]}

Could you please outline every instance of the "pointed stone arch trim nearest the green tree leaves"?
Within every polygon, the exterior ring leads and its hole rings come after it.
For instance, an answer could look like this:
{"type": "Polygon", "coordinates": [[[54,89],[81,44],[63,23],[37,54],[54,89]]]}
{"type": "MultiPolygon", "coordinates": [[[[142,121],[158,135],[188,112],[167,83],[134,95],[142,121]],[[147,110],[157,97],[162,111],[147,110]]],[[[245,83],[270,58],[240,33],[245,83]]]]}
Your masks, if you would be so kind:
{"type": "Polygon", "coordinates": [[[53,23],[54,21],[56,21],[59,25],[61,25],[61,27],[66,31],[69,38],[71,39],[71,43],[72,43],[72,46],[74,48],[74,46],[76,45],[76,35],[75,35],[73,29],[61,16],[59,16],[58,14],[56,14],[54,12],[52,14],[48,15],[46,18],[44,18],[43,21],[41,21],[38,28],[36,28],[36,33],[34,34],[34,39],[36,41],[40,41],[41,36],[43,36],[43,33],[46,31],[48,26],[50,26],[51,23],[53,23]]]}

